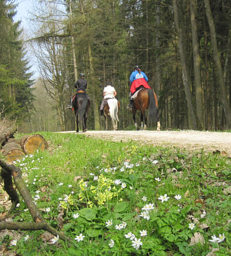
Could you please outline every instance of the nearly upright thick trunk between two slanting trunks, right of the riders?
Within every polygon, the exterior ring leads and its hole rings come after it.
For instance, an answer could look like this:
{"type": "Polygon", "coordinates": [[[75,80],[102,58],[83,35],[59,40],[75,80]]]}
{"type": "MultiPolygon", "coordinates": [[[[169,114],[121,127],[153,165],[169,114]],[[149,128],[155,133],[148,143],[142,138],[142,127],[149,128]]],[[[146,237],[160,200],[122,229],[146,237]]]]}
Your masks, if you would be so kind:
{"type": "Polygon", "coordinates": [[[201,86],[201,60],[199,56],[199,43],[197,38],[197,21],[195,0],[190,2],[190,17],[192,27],[192,47],[193,47],[193,66],[195,76],[195,106],[197,112],[198,128],[204,129],[203,102],[202,102],[202,86],[201,86]]]}

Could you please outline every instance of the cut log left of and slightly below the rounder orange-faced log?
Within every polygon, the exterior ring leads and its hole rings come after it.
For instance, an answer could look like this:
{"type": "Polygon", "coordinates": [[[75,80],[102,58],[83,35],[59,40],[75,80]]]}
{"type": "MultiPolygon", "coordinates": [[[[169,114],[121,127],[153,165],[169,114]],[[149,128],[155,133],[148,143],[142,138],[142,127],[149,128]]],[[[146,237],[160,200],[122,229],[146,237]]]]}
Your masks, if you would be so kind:
{"type": "Polygon", "coordinates": [[[7,143],[5,146],[3,146],[3,156],[6,156],[7,161],[12,163],[13,161],[25,156],[25,153],[19,144],[7,143]]]}

